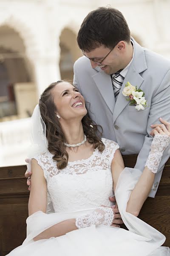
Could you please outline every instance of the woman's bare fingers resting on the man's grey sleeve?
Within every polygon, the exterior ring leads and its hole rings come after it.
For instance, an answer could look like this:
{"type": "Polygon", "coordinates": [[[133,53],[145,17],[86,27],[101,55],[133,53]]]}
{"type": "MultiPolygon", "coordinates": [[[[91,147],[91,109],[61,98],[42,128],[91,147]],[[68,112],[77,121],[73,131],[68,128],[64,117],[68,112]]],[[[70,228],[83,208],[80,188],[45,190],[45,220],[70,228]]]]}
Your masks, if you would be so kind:
{"type": "Polygon", "coordinates": [[[167,122],[162,118],[160,118],[160,121],[162,124],[150,125],[150,127],[153,128],[150,135],[155,136],[156,134],[159,134],[170,136],[170,122],[167,122]]]}

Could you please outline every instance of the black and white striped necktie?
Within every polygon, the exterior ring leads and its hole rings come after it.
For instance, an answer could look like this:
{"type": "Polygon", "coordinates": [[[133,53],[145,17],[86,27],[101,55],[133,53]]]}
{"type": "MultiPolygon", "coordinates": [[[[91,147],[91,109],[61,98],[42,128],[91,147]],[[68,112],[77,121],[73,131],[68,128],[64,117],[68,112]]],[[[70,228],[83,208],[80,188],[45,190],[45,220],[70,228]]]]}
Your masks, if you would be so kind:
{"type": "Polygon", "coordinates": [[[122,70],[119,70],[118,72],[111,75],[115,101],[119,95],[119,92],[120,92],[120,89],[122,87],[123,80],[124,80],[124,77],[120,74],[121,71],[122,70]]]}

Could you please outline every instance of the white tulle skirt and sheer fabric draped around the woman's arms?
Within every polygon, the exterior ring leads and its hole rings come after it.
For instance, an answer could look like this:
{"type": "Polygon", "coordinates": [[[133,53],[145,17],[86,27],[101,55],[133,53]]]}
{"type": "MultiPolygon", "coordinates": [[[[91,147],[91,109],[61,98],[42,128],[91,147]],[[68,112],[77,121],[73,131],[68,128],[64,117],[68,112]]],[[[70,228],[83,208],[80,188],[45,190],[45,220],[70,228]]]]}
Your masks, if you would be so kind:
{"type": "Polygon", "coordinates": [[[34,241],[49,227],[93,209],[45,214],[35,212],[27,218],[27,238],[9,256],[170,256],[170,248],[161,247],[165,236],[139,218],[126,212],[127,201],[141,173],[125,168],[116,186],[116,201],[129,231],[111,226],[91,226],[64,236],[34,241]]]}

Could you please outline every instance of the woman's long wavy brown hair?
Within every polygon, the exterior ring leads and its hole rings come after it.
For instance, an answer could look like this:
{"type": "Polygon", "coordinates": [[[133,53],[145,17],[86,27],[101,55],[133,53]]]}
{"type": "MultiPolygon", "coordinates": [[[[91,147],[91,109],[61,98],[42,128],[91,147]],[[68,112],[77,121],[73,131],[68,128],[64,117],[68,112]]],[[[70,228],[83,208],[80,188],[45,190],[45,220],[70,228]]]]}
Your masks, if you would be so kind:
{"type": "MultiPolygon", "coordinates": [[[[48,140],[48,150],[54,152],[53,159],[57,161],[58,169],[63,169],[68,164],[68,153],[63,145],[63,143],[66,142],[65,136],[59,119],[56,117],[57,109],[52,95],[53,88],[62,82],[68,81],[59,80],[50,84],[42,93],[39,101],[40,113],[46,125],[45,135],[48,140]]],[[[88,142],[92,143],[94,148],[98,148],[98,150],[102,152],[105,148],[101,140],[102,127],[96,125],[96,123],[91,120],[88,113],[82,118],[82,127],[84,134],[88,138],[88,142]]]]}

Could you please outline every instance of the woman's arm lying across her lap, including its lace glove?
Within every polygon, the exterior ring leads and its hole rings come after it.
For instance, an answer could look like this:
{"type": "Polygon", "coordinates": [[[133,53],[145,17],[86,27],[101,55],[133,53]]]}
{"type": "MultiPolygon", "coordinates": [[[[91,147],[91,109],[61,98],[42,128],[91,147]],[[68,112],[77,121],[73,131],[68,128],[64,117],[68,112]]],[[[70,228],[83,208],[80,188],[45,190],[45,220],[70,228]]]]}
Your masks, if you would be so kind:
{"type": "MultiPolygon", "coordinates": [[[[47,183],[43,170],[35,159],[31,160],[31,170],[31,192],[28,203],[29,215],[37,211],[46,212],[47,207],[47,183]]],[[[115,215],[119,214],[115,213],[115,215]]],[[[80,216],[77,219],[68,219],[49,227],[34,237],[34,241],[62,236],[78,228],[90,227],[91,225],[112,225],[113,219],[114,210],[112,207],[98,207],[91,214],[80,216]]]]}

